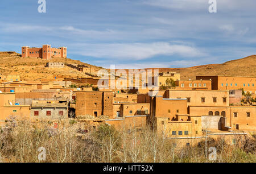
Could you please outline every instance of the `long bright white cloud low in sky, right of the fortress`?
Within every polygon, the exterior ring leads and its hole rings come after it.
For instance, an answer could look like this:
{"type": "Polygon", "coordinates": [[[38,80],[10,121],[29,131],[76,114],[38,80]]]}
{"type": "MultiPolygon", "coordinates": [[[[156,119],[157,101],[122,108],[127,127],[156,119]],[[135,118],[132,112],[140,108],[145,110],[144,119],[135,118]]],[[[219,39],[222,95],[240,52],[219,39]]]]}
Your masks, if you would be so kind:
{"type": "Polygon", "coordinates": [[[78,44],[79,53],[84,56],[105,57],[113,59],[143,60],[158,55],[178,55],[183,57],[204,56],[199,49],[188,46],[170,44],[167,42],[155,43],[113,43],[113,44],[78,44]],[[82,47],[81,47],[82,46],[82,47]]]}

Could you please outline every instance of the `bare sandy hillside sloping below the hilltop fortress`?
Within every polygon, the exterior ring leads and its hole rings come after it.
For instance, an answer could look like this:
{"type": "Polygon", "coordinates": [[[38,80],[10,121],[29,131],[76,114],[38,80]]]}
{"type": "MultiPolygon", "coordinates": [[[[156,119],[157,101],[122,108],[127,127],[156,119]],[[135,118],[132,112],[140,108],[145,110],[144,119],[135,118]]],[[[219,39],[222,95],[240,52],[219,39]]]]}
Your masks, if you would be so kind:
{"type": "MultiPolygon", "coordinates": [[[[19,74],[22,80],[52,80],[53,77],[57,75],[88,77],[85,73],[67,66],[64,68],[47,68],[45,65],[49,61],[65,63],[65,59],[63,58],[43,60],[32,57],[22,58],[21,55],[16,52],[0,52],[0,74],[19,74]]],[[[88,65],[93,68],[100,69],[100,67],[82,63],[79,60],[67,59],[67,64],[88,65]]]]}

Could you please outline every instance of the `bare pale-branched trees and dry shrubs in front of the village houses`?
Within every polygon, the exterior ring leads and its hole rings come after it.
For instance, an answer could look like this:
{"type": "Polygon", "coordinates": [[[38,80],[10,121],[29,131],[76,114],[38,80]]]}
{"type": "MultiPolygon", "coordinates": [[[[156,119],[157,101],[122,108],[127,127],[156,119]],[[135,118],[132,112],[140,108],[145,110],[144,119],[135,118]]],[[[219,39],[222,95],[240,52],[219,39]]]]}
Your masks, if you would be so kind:
{"type": "MultiPolygon", "coordinates": [[[[70,121],[69,121],[70,122],[70,121]]],[[[54,129],[49,122],[29,120],[8,122],[0,133],[2,162],[213,162],[205,155],[205,142],[195,147],[181,147],[179,141],[168,140],[153,130],[117,131],[101,125],[92,133],[77,136],[76,124],[54,129]],[[39,161],[39,147],[46,150],[46,160],[39,161]]],[[[214,162],[256,162],[256,139],[229,145],[224,139],[208,139],[208,147],[216,147],[214,162]],[[240,144],[240,145],[238,145],[240,144]]]]}

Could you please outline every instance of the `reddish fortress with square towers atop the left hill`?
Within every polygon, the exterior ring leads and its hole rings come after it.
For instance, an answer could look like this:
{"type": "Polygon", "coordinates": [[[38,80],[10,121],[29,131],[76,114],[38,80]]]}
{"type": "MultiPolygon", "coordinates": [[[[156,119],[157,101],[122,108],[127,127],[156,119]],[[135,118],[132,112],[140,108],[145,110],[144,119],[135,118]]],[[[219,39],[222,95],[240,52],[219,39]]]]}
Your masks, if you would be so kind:
{"type": "Polygon", "coordinates": [[[67,47],[52,48],[51,45],[43,45],[42,48],[22,47],[22,57],[40,57],[49,60],[52,57],[67,57],[67,47]]]}

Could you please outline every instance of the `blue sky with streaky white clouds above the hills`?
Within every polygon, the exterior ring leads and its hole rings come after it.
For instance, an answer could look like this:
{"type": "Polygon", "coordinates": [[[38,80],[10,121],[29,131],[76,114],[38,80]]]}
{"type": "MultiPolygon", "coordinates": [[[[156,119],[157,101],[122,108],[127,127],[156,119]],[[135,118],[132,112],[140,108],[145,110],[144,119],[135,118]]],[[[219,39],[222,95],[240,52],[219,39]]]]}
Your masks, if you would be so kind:
{"type": "Polygon", "coordinates": [[[68,47],[68,57],[109,68],[175,68],[255,54],[256,1],[2,0],[0,51],[68,47]]]}

